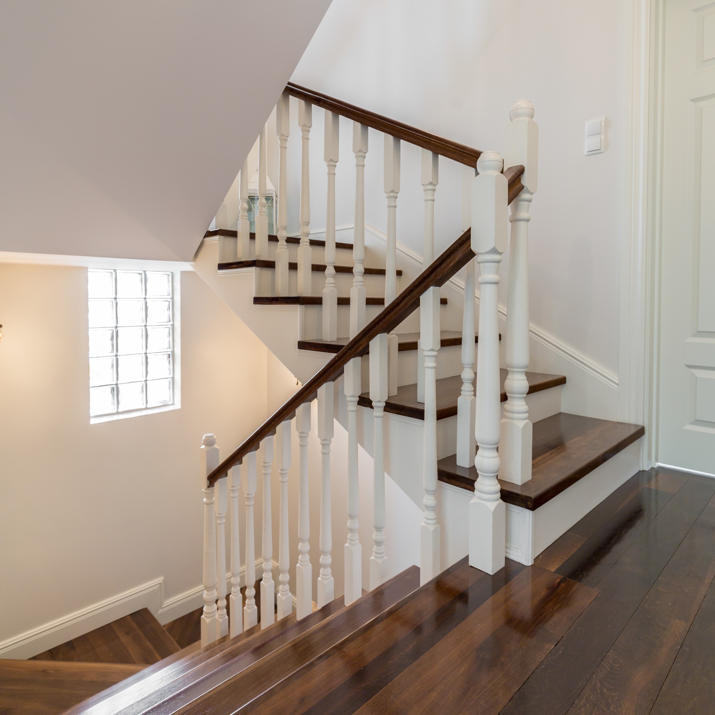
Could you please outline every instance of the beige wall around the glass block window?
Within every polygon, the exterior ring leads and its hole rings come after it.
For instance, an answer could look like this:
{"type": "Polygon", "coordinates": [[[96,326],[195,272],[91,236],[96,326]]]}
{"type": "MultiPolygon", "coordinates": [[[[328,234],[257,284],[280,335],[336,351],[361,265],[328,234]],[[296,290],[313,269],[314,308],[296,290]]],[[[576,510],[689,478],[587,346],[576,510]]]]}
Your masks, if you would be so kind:
{"type": "Polygon", "coordinates": [[[164,601],[199,586],[200,440],[225,456],[265,420],[269,360],[180,284],[181,408],[90,425],[87,269],[0,264],[0,642],[155,578],[164,601]]]}

